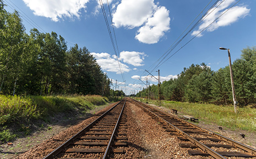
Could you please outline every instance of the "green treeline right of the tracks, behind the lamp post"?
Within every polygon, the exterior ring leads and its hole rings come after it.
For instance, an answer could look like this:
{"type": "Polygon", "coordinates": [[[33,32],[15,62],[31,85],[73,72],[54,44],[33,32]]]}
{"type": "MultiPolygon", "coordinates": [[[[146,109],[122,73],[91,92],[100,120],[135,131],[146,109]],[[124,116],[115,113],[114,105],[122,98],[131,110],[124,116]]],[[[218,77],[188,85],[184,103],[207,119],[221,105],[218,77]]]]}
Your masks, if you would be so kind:
{"type": "MultiPolygon", "coordinates": [[[[242,50],[240,59],[232,64],[236,98],[239,106],[256,103],[256,47],[242,50]]],[[[152,85],[150,98],[158,99],[157,85],[152,85]]],[[[138,97],[146,97],[148,89],[143,89],[138,97]]],[[[212,71],[204,63],[192,64],[175,79],[161,84],[161,96],[165,100],[189,101],[192,103],[213,103],[228,105],[233,103],[229,66],[212,71]]]]}

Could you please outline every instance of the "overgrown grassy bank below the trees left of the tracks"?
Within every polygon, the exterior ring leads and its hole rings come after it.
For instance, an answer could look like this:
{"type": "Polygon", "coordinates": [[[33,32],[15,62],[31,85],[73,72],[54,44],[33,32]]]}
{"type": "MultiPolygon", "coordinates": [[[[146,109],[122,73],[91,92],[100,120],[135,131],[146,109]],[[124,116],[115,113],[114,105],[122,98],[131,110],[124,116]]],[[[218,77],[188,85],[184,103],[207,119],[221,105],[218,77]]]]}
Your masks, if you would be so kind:
{"type": "MultiPolygon", "coordinates": [[[[0,95],[0,143],[31,133],[35,121],[48,122],[58,113],[86,113],[107,104],[98,95],[6,96],[0,95]]],[[[39,122],[41,124],[41,122],[39,122]]],[[[37,127],[42,127],[39,125],[37,127]]]]}

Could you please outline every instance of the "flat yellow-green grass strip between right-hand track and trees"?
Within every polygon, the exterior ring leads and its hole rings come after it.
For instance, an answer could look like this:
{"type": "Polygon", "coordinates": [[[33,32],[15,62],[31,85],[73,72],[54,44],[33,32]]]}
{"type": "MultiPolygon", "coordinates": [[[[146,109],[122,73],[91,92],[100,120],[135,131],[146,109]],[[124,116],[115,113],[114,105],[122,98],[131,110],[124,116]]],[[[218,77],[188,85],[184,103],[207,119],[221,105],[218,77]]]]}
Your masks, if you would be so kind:
{"type": "MultiPolygon", "coordinates": [[[[138,98],[138,100],[140,100],[138,98]]],[[[146,100],[144,99],[145,103],[146,100]]],[[[157,101],[150,100],[149,104],[157,105],[157,101]]],[[[176,109],[186,115],[199,118],[207,123],[216,123],[227,128],[249,130],[256,132],[256,109],[246,106],[238,107],[235,114],[233,106],[219,106],[214,104],[197,104],[178,101],[162,101],[162,106],[168,109],[176,109]]]]}

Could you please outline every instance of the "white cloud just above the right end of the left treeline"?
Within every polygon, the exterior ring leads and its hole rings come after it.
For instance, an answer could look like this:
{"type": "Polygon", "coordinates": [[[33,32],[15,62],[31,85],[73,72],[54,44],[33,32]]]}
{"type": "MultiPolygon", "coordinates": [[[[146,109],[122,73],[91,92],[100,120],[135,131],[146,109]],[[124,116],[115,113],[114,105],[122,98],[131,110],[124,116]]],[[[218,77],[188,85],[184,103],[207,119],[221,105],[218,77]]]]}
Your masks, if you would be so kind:
{"type": "MultiPolygon", "coordinates": [[[[114,58],[111,58],[111,55],[108,53],[91,53],[92,56],[96,58],[97,63],[101,66],[102,70],[116,72],[117,74],[121,73],[118,65],[118,61],[114,58]]],[[[129,72],[130,69],[127,65],[119,63],[122,67],[123,72],[129,72]]]]}

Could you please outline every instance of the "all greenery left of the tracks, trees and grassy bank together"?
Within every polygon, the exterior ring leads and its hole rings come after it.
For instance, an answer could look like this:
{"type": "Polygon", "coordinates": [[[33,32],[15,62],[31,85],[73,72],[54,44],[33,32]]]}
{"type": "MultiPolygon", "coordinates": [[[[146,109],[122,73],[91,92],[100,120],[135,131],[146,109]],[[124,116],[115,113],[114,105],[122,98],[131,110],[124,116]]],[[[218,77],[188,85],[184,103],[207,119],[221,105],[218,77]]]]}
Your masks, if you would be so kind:
{"type": "Polygon", "coordinates": [[[112,79],[86,47],[68,48],[56,32],[28,33],[19,13],[5,7],[0,0],[0,142],[45,127],[56,115],[85,115],[124,96],[110,88],[112,79]]]}

